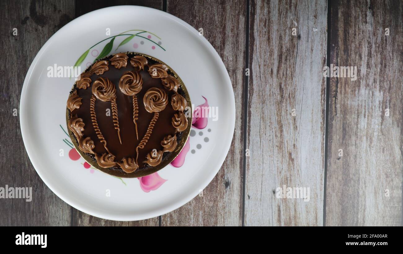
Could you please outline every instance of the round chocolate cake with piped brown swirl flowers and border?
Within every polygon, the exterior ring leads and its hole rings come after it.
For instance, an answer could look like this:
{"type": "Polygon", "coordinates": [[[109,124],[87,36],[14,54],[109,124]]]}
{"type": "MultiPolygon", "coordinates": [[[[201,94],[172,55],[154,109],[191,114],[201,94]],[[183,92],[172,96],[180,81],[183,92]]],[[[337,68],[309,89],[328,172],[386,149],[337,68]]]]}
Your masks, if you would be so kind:
{"type": "Polygon", "coordinates": [[[189,95],[160,60],[118,53],[81,73],[67,100],[67,127],[77,151],[119,177],[149,175],[181,151],[191,127],[189,95]]]}

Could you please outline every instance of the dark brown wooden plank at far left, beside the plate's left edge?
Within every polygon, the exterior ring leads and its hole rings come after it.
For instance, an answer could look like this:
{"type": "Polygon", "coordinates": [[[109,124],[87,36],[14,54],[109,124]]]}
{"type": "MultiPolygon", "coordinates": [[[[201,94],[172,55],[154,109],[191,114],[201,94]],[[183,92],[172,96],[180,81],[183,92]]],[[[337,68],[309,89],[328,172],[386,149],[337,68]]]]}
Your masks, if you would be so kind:
{"type": "Polygon", "coordinates": [[[25,74],[36,53],[60,27],[74,17],[70,1],[0,1],[0,186],[32,187],[32,201],[0,199],[0,225],[70,225],[71,209],[37,175],[25,151],[19,116],[25,74]],[[18,34],[12,35],[17,28],[18,34]]]}

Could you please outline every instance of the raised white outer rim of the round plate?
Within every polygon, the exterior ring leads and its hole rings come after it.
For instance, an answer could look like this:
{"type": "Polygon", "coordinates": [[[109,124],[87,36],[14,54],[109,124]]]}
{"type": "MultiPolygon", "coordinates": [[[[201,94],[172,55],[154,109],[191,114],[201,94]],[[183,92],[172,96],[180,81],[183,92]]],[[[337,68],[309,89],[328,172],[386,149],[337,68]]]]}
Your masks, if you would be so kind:
{"type": "MultiPolygon", "coordinates": [[[[63,200],[64,202],[66,202],[66,204],[69,204],[70,206],[74,207],[75,209],[84,212],[86,214],[89,214],[91,216],[95,216],[101,219],[108,219],[108,220],[112,220],[112,221],[139,221],[139,220],[145,220],[145,219],[151,219],[154,217],[158,217],[161,216],[163,214],[167,214],[168,212],[172,212],[173,210],[176,210],[178,208],[180,208],[181,206],[187,204],[188,202],[190,202],[191,200],[193,200],[193,198],[195,198],[198,194],[199,191],[195,190],[193,192],[189,192],[188,194],[184,195],[185,198],[181,198],[178,200],[178,202],[175,202],[173,204],[170,204],[169,206],[164,206],[162,208],[158,208],[155,210],[152,210],[150,212],[147,213],[141,213],[141,214],[130,214],[130,215],[108,215],[108,212],[106,213],[102,213],[102,212],[98,212],[98,211],[94,211],[91,210],[91,208],[85,208],[85,207],[81,207],[79,205],[76,204],[76,201],[68,198],[66,196],[63,196],[63,194],[61,194],[59,191],[56,191],[56,188],[53,186],[53,184],[50,181],[46,180],[46,176],[43,172],[41,172],[41,170],[39,169],[38,165],[36,164],[36,162],[34,162],[32,160],[33,156],[32,153],[30,152],[32,150],[31,148],[31,144],[28,142],[28,137],[29,137],[29,127],[27,126],[27,124],[25,123],[25,119],[27,118],[26,113],[24,111],[24,103],[23,101],[25,101],[25,96],[27,96],[27,87],[28,87],[28,83],[29,80],[31,79],[32,76],[32,72],[33,69],[35,68],[39,58],[44,54],[44,52],[46,51],[46,48],[48,48],[48,46],[51,44],[51,40],[52,37],[54,37],[56,34],[60,33],[60,31],[66,29],[67,26],[71,25],[71,23],[77,23],[79,22],[81,19],[83,19],[83,17],[87,17],[89,15],[94,15],[94,13],[96,12],[102,12],[105,10],[110,10],[110,9],[119,9],[119,8],[137,8],[139,10],[143,9],[144,11],[151,11],[151,12],[158,12],[159,15],[162,15],[168,19],[172,19],[173,21],[179,23],[180,25],[182,25],[185,29],[189,30],[191,33],[193,33],[194,35],[198,34],[199,31],[197,31],[195,28],[193,28],[191,25],[189,25],[188,23],[186,23],[185,21],[183,21],[182,19],[179,19],[178,17],[171,15],[167,12],[164,12],[162,10],[158,10],[155,8],[150,8],[150,7],[145,7],[145,6],[136,6],[136,5],[119,5],[119,6],[110,6],[110,7],[106,7],[106,8],[101,8],[98,10],[93,10],[91,12],[88,12],[84,15],[81,15],[80,17],[77,17],[76,19],[73,19],[72,21],[70,21],[69,23],[67,23],[66,25],[64,25],[62,28],[60,28],[58,31],[56,31],[47,41],[46,43],[41,47],[41,49],[39,50],[39,52],[35,55],[33,61],[31,62],[31,65],[29,66],[29,69],[27,71],[27,74],[25,76],[24,79],[24,83],[23,83],[23,87],[21,90],[21,96],[20,96],[20,103],[19,103],[19,120],[20,120],[20,129],[21,129],[21,136],[23,138],[23,142],[24,142],[24,146],[25,146],[25,151],[28,154],[29,160],[31,161],[31,164],[33,165],[36,173],[39,175],[39,177],[42,179],[42,181],[46,184],[46,186],[48,186],[48,188],[54,193],[56,194],[56,196],[58,196],[58,198],[60,198],[61,200],[63,200]]],[[[229,112],[231,112],[231,114],[229,115],[230,117],[230,123],[231,126],[229,126],[229,130],[232,130],[232,137],[231,139],[228,139],[228,141],[226,142],[226,144],[224,144],[224,151],[225,151],[225,156],[222,156],[222,158],[220,158],[220,160],[217,161],[216,165],[217,165],[217,169],[215,170],[214,173],[209,174],[206,177],[206,181],[202,181],[201,186],[202,189],[205,189],[210,182],[214,179],[214,177],[216,177],[218,171],[220,171],[222,164],[224,163],[226,157],[228,156],[228,152],[229,149],[231,148],[231,143],[233,140],[233,136],[234,136],[234,131],[235,131],[235,114],[236,114],[236,108],[235,108],[235,95],[234,95],[234,91],[233,91],[233,86],[232,86],[232,82],[231,79],[229,77],[229,73],[224,65],[224,62],[222,61],[222,58],[220,57],[220,55],[218,54],[218,52],[214,49],[214,47],[210,44],[210,42],[208,42],[208,40],[206,39],[206,37],[204,36],[199,36],[199,39],[202,40],[203,44],[210,50],[210,52],[213,54],[214,56],[214,60],[216,60],[218,66],[219,66],[219,72],[223,75],[223,78],[225,80],[224,85],[228,86],[231,88],[232,91],[232,96],[230,94],[230,99],[229,99],[229,112]],[[231,110],[232,108],[232,110],[231,110]]]]}

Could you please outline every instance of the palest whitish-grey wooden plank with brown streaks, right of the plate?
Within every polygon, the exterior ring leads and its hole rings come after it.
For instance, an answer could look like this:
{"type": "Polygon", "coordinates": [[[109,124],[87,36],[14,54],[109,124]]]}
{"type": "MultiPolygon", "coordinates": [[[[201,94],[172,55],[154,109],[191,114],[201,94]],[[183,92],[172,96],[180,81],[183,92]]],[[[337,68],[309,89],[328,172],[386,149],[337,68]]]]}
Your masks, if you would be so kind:
{"type": "Polygon", "coordinates": [[[253,0],[250,10],[245,225],[322,225],[326,1],[253,0]],[[283,185],[309,187],[309,202],[276,198],[283,185]]]}

